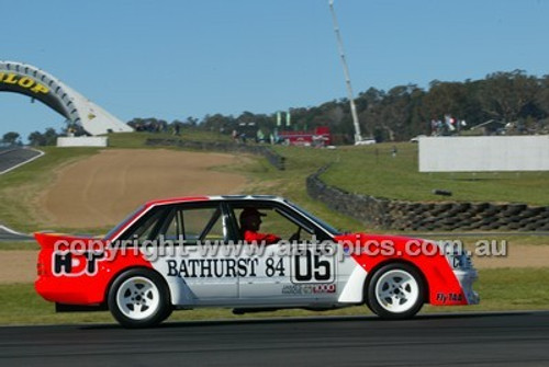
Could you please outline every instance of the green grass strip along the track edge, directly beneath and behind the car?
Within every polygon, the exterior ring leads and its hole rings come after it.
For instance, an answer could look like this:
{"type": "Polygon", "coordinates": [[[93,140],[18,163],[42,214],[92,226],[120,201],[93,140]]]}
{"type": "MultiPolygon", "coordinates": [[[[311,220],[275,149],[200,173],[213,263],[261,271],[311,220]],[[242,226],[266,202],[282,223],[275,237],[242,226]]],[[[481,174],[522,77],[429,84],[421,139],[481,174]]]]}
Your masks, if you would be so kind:
{"type": "MultiPolygon", "coordinates": [[[[469,307],[432,307],[422,312],[547,310],[549,288],[540,286],[549,278],[549,267],[482,269],[475,289],[482,301],[469,307]]],[[[44,301],[34,291],[32,284],[0,285],[0,324],[46,324],[113,322],[109,312],[55,313],[54,305],[44,301]]],[[[171,321],[242,319],[267,317],[312,316],[363,316],[371,314],[366,307],[350,307],[326,312],[305,310],[281,310],[276,312],[234,316],[228,309],[198,309],[173,312],[171,321]]]]}

